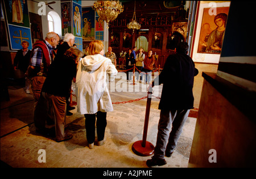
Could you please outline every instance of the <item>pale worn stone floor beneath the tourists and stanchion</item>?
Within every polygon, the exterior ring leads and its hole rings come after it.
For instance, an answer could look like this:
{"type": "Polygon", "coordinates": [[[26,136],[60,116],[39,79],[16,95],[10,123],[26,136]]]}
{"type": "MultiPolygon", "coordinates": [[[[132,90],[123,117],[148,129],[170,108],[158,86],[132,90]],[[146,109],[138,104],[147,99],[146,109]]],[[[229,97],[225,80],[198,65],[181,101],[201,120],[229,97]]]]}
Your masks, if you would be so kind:
{"type": "MultiPolygon", "coordinates": [[[[121,75],[122,76],[122,75],[121,75]]],[[[112,102],[130,101],[147,96],[146,85],[115,79],[109,86],[112,102]]],[[[73,88],[75,90],[75,88],[73,88]]],[[[162,86],[155,89],[160,96],[162,86]]],[[[75,91],[73,92],[75,93],[75,91]]],[[[34,98],[20,86],[9,86],[10,101],[1,101],[1,161],[11,167],[73,167],[73,168],[144,168],[151,156],[138,156],[131,150],[137,140],[142,140],[146,99],[133,103],[113,104],[114,111],[107,116],[106,142],[89,149],[86,140],[85,118],[71,110],[67,117],[71,140],[57,143],[35,131],[33,123],[34,98]],[[46,151],[46,163],[39,163],[46,151]]],[[[75,96],[72,97],[76,101],[75,96]]],[[[159,99],[152,98],[147,141],[155,145],[160,110],[159,99]]],[[[166,157],[166,168],[186,168],[191,151],[196,118],[188,117],[174,154],[166,157]]]]}

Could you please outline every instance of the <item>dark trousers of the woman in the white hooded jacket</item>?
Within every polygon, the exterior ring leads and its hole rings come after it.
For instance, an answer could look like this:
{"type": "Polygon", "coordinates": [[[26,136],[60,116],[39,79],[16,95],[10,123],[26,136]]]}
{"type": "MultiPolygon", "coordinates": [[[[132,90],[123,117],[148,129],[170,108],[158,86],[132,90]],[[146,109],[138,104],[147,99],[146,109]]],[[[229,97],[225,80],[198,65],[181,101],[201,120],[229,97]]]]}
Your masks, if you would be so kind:
{"type": "Polygon", "coordinates": [[[89,144],[94,143],[95,140],[95,122],[97,127],[97,138],[98,141],[104,139],[105,129],[107,125],[106,113],[98,111],[96,114],[84,114],[85,117],[85,129],[86,129],[86,138],[89,144]]]}

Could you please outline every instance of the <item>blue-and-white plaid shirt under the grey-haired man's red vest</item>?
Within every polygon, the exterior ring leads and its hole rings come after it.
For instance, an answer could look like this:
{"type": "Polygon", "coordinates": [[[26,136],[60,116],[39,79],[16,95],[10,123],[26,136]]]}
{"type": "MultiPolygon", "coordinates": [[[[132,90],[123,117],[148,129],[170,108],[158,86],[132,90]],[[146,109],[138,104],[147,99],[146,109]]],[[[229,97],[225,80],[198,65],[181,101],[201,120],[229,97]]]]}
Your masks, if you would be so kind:
{"type": "MultiPolygon", "coordinates": [[[[49,44],[49,42],[44,40],[44,43],[46,43],[46,46],[48,47],[49,57],[50,57],[51,62],[52,62],[52,60],[53,60],[52,59],[53,48],[52,48],[51,44],[49,44]]],[[[32,51],[30,65],[35,66],[35,67],[41,67],[42,66],[42,60],[43,60],[43,50],[41,48],[34,49],[32,51]]]]}

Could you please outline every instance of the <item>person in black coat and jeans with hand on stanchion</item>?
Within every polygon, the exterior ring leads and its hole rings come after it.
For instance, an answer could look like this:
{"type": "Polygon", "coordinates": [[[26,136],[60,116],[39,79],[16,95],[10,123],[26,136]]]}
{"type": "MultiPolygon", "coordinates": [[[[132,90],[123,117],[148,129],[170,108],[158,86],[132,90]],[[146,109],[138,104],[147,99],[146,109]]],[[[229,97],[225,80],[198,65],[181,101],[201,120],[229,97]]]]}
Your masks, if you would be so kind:
{"type": "Polygon", "coordinates": [[[187,53],[187,42],[180,42],[175,49],[175,54],[167,58],[162,73],[155,78],[148,88],[151,91],[151,87],[163,84],[159,103],[161,112],[158,137],[154,156],[152,156],[152,159],[147,160],[148,167],[166,164],[164,155],[170,157],[174,152],[189,111],[193,109],[194,97],[192,88],[194,76],[199,71],[195,68],[195,63],[187,53]]]}

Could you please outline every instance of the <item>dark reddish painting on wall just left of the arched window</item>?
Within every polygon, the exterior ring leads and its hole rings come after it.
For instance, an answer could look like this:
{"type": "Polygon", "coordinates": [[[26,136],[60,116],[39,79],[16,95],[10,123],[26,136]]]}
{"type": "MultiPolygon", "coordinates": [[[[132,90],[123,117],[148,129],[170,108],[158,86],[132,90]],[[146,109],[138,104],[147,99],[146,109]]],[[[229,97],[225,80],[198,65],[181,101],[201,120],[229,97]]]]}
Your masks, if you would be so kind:
{"type": "Polygon", "coordinates": [[[42,16],[30,12],[30,23],[32,42],[43,40],[42,16]]]}

